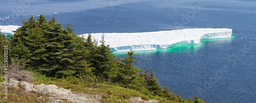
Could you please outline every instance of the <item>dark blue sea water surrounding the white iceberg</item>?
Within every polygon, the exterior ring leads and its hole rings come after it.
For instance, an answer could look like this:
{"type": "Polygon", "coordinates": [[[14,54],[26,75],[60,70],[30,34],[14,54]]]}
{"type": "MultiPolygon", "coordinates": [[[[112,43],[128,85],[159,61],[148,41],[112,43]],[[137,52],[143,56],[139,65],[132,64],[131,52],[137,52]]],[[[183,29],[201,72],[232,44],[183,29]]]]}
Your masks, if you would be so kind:
{"type": "Polygon", "coordinates": [[[193,94],[210,102],[256,102],[254,1],[33,1],[18,13],[21,3],[1,1],[0,18],[6,19],[0,25],[21,25],[29,15],[45,14],[63,25],[72,23],[78,34],[231,28],[229,39],[136,52],[135,64],[154,70],[163,87],[186,98],[193,94]]]}

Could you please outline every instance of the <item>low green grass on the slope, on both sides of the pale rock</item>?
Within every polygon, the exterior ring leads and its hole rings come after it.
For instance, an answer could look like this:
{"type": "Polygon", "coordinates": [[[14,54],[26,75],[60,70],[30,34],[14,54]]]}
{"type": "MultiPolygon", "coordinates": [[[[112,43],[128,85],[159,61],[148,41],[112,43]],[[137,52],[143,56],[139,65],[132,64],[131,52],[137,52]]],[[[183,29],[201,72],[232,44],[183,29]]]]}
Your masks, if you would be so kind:
{"type": "MultiPolygon", "coordinates": [[[[159,102],[193,102],[181,98],[179,95],[174,95],[174,99],[166,100],[165,98],[153,95],[145,95],[136,90],[123,88],[120,86],[115,86],[107,83],[90,83],[90,82],[81,82],[77,78],[68,78],[68,79],[56,79],[48,78],[42,75],[34,75],[35,84],[55,84],[58,87],[65,89],[71,89],[75,92],[96,94],[101,96],[100,101],[102,102],[129,102],[131,97],[141,97],[144,100],[148,99],[157,99],[159,102]]],[[[3,85],[3,84],[1,84],[3,85]]],[[[4,97],[4,87],[0,86],[0,97],[4,97]]],[[[18,88],[9,87],[8,88],[8,99],[1,99],[2,102],[48,102],[49,95],[38,93],[35,91],[25,92],[23,86],[18,88]],[[40,97],[41,96],[41,97],[40,97]]],[[[66,101],[63,99],[63,101],[66,101]]]]}

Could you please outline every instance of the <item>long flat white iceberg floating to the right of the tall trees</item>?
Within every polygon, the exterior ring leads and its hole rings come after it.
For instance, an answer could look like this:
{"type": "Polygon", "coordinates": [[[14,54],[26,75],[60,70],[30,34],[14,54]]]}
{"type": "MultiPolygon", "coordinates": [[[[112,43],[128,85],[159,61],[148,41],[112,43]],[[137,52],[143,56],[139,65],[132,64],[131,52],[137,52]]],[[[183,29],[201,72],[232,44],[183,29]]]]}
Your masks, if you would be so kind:
{"type": "MultiPolygon", "coordinates": [[[[161,50],[169,47],[198,44],[205,39],[228,38],[232,29],[194,28],[138,33],[104,33],[105,45],[110,45],[113,52],[161,50]]],[[[88,34],[79,35],[87,38],[88,34]]],[[[102,33],[92,33],[92,39],[101,40],[102,33]]]]}

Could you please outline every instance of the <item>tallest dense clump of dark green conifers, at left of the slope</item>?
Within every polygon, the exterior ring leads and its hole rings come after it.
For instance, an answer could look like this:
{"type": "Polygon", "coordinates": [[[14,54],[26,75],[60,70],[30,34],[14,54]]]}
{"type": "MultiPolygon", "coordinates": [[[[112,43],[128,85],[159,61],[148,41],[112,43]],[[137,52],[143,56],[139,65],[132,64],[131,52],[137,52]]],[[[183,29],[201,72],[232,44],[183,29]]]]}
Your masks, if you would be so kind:
{"type": "Polygon", "coordinates": [[[90,72],[86,59],[89,50],[69,24],[62,29],[55,18],[47,21],[40,15],[36,20],[31,16],[14,31],[10,38],[12,57],[29,59],[28,67],[47,76],[67,77],[82,70],[90,72]]]}

